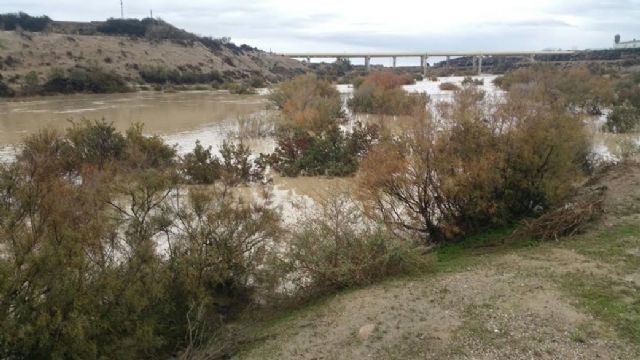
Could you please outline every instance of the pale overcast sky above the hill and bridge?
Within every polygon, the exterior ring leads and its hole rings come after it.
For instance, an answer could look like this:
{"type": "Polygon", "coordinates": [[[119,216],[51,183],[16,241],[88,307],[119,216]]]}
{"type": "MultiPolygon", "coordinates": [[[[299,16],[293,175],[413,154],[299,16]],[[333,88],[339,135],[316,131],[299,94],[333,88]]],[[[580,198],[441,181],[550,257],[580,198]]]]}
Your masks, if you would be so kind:
{"type": "MultiPolygon", "coordinates": [[[[263,50],[445,51],[610,47],[640,38],[640,0],[124,0],[191,32],[263,50]]],[[[120,16],[119,0],[0,0],[55,20],[120,16]]]]}

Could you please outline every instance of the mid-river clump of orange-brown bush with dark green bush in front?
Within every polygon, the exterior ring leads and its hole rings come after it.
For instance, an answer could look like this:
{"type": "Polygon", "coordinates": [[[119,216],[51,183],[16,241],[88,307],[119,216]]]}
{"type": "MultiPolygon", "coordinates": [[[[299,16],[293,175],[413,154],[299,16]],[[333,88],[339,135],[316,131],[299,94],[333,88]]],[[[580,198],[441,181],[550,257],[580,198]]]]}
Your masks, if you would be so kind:
{"type": "Polygon", "coordinates": [[[283,123],[276,130],[276,149],[266,160],[285,176],[351,175],[378,137],[372,125],[341,129],[340,94],[313,75],[281,84],[272,101],[282,109],[283,123]]]}

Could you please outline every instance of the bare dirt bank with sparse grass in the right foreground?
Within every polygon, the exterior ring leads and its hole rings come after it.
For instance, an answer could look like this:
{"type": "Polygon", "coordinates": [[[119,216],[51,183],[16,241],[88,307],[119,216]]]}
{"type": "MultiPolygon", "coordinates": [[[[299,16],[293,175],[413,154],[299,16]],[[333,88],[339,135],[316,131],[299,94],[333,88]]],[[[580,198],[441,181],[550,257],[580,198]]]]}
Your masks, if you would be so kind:
{"type": "Polygon", "coordinates": [[[606,215],[584,234],[443,249],[431,274],[266,321],[237,358],[638,359],[640,166],[595,185],[606,215]]]}

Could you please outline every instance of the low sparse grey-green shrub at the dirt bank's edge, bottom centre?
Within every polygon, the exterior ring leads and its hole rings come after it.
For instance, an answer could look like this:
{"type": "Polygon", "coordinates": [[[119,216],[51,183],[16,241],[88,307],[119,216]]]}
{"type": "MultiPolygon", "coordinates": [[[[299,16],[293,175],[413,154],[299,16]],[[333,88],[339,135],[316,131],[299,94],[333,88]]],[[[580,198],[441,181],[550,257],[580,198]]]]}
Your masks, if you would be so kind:
{"type": "Polygon", "coordinates": [[[428,270],[432,262],[381,224],[365,218],[348,196],[335,195],[309,214],[287,244],[291,282],[305,294],[371,284],[428,270]]]}

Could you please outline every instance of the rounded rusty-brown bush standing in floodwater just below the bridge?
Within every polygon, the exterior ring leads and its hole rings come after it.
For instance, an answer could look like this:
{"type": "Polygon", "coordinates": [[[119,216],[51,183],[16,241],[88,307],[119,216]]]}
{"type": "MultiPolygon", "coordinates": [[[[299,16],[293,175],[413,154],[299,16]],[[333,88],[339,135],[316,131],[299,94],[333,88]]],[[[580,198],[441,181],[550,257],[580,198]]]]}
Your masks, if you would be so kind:
{"type": "Polygon", "coordinates": [[[410,76],[393,72],[377,71],[354,82],[355,91],[349,99],[349,107],[354,112],[408,115],[419,105],[426,106],[423,95],[409,94],[402,85],[414,83],[410,76]]]}

